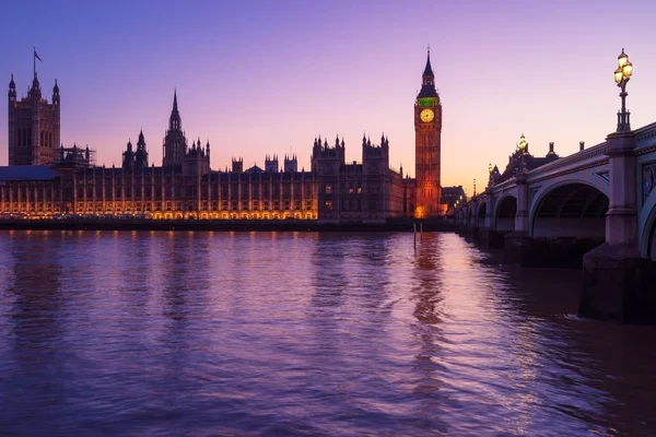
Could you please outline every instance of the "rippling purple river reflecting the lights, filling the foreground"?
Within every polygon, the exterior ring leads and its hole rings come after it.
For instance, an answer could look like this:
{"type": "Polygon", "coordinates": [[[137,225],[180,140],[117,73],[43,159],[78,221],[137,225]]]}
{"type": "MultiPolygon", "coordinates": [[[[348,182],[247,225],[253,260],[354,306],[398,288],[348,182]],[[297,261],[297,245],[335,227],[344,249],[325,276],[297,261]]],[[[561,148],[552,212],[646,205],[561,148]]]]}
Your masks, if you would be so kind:
{"type": "Polygon", "coordinates": [[[0,232],[0,434],[647,436],[656,328],[455,234],[0,232]]]}

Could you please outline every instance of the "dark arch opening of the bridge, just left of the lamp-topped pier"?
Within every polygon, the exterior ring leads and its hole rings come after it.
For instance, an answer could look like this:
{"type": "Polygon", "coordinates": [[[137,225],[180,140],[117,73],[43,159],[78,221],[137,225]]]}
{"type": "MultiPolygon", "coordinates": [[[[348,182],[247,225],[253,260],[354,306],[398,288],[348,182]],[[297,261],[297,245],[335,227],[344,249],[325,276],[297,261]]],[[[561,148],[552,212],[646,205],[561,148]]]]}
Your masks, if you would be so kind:
{"type": "Polygon", "coordinates": [[[607,187],[565,180],[538,193],[529,212],[529,235],[606,239],[607,187]]]}

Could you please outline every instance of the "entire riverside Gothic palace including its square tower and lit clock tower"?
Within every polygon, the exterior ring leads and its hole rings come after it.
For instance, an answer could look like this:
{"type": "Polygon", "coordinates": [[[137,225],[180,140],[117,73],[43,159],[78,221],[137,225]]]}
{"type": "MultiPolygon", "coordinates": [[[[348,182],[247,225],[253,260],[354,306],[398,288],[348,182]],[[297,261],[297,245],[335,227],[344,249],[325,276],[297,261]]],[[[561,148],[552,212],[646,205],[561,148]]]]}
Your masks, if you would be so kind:
{"type": "MultiPolygon", "coordinates": [[[[143,132],[127,143],[122,165],[95,163],[95,151],[60,143],[60,94],[43,97],[36,71],[27,96],[9,83],[9,166],[0,167],[0,217],[102,216],[142,218],[312,220],[380,223],[397,217],[438,217],[442,104],[430,54],[414,105],[415,178],[389,166],[389,141],[362,139],[362,162],[345,162],[344,139],[316,138],[309,170],[295,155],[282,167],[267,155],[263,168],[210,166],[211,146],[183,131],[174,92],[161,166],[149,161],[143,132]]],[[[461,191],[460,188],[452,188],[461,191]]],[[[453,193],[450,193],[453,196],[453,193]]]]}

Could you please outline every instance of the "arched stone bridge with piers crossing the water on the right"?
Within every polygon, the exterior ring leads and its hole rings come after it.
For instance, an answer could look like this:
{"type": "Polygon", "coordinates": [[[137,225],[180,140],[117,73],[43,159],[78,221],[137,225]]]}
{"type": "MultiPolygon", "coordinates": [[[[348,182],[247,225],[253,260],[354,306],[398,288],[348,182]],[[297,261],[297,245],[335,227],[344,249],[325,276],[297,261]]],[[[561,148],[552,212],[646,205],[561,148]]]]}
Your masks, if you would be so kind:
{"type": "Polygon", "coordinates": [[[455,217],[469,238],[524,268],[583,268],[582,315],[653,322],[656,122],[628,126],[535,168],[520,144],[511,177],[491,168],[488,188],[455,217]]]}

